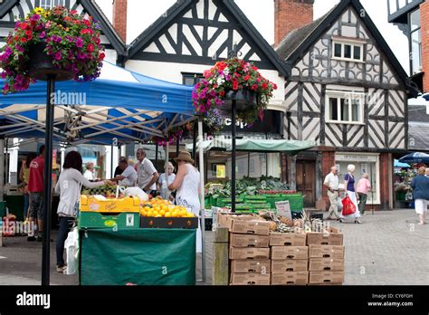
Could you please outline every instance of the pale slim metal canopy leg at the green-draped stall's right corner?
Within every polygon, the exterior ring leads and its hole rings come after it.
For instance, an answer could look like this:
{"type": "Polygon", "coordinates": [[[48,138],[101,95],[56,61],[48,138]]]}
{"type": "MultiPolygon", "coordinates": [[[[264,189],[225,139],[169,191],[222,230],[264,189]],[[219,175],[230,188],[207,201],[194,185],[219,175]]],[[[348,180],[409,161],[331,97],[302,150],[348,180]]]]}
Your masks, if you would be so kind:
{"type": "Polygon", "coordinates": [[[200,215],[201,215],[201,242],[203,253],[201,254],[201,266],[203,268],[203,282],[205,282],[205,191],[204,191],[204,142],[203,142],[203,117],[198,118],[198,151],[200,165],[200,215]]]}

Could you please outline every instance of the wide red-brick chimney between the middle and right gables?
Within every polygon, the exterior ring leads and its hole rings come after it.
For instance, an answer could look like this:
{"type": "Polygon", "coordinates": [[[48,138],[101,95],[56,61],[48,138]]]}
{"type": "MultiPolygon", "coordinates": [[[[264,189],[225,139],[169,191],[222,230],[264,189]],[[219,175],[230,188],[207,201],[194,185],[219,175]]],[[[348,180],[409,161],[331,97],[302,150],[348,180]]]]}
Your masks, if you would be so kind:
{"type": "Polygon", "coordinates": [[[274,0],[276,47],[291,31],[313,22],[314,0],[274,0]]]}

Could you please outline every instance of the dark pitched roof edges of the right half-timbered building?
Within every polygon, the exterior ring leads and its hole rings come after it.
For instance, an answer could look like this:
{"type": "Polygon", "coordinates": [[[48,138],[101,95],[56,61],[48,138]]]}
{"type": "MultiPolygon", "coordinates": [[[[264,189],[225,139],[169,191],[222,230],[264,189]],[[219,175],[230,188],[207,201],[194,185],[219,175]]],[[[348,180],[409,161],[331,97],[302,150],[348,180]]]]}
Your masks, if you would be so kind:
{"type": "Polygon", "coordinates": [[[287,47],[288,35],[281,41],[276,51],[281,53],[281,59],[289,63],[292,67],[296,64],[305,52],[308,52],[310,46],[319,40],[319,38],[331,27],[339,18],[339,16],[351,5],[356,12],[365,12],[366,14],[358,14],[363,23],[367,26],[367,31],[376,40],[377,47],[386,55],[386,59],[390,62],[393,70],[398,75],[399,79],[405,86],[409,87],[407,83],[407,74],[398,62],[395,53],[392,52],[389,45],[386,43],[383,35],[378,31],[376,24],[371,20],[367,14],[367,10],[360,4],[358,0],[341,0],[338,5],[333,7],[328,14],[322,16],[313,24],[304,26],[295,31],[295,35],[291,33],[291,48],[287,47]]]}

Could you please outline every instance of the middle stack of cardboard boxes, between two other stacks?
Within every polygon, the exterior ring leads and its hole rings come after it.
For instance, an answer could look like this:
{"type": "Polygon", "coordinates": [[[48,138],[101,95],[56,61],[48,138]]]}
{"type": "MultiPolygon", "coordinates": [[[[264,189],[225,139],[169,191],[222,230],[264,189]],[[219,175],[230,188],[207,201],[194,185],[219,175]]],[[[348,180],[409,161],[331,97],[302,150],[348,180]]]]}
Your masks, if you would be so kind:
{"type": "Polygon", "coordinates": [[[270,234],[272,285],[306,285],[309,279],[309,247],[304,233],[270,234]]]}

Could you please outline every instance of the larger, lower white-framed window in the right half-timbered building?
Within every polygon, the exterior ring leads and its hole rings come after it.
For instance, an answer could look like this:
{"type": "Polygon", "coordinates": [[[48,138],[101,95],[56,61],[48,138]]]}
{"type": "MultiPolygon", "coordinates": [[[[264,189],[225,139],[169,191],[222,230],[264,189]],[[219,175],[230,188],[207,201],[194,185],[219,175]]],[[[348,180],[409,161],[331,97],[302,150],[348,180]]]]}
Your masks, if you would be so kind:
{"type": "Polygon", "coordinates": [[[327,91],[326,120],[331,123],[363,124],[364,94],[327,91]]]}

